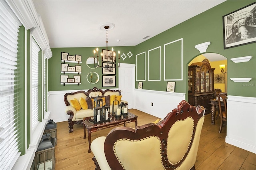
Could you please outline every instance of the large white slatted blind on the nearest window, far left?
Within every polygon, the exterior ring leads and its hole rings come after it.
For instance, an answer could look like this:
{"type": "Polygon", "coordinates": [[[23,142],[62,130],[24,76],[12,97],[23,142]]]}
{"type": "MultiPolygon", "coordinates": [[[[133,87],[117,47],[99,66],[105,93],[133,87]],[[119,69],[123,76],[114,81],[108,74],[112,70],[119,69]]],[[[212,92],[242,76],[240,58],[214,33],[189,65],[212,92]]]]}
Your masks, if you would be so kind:
{"type": "Polygon", "coordinates": [[[20,154],[15,124],[19,25],[6,2],[0,1],[0,170],[11,169],[20,154]]]}

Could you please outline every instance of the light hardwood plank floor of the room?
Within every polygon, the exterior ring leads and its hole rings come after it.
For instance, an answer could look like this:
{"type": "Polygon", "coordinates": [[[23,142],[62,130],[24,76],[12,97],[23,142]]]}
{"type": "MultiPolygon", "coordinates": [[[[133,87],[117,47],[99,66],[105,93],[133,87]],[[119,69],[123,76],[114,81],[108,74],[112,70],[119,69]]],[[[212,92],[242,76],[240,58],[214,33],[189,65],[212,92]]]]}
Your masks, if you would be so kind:
{"type": "MultiPolygon", "coordinates": [[[[138,116],[138,126],[158,119],[136,109],[129,112],[138,116]]],[[[166,114],[167,115],[167,114],[166,114]]],[[[135,127],[135,123],[126,124],[135,127]]],[[[225,143],[226,127],[218,133],[220,120],[211,125],[211,115],[205,116],[200,137],[195,167],[197,170],[256,170],[256,154],[225,143]]],[[[92,140],[106,136],[112,128],[92,133],[92,140]]],[[[57,123],[57,145],[55,147],[56,170],[94,170],[93,153],[88,153],[88,138],[84,139],[82,125],[74,125],[74,132],[68,132],[68,122],[57,123]]]]}

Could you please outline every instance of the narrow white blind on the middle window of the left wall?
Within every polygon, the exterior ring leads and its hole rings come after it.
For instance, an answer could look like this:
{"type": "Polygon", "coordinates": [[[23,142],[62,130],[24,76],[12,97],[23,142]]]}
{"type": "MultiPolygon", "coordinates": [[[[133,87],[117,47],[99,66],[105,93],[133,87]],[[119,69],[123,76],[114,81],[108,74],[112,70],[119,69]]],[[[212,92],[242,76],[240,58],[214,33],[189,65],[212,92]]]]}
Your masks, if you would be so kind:
{"type": "Polygon", "coordinates": [[[40,51],[36,41],[31,38],[31,80],[32,80],[32,130],[38,125],[39,114],[39,99],[38,99],[38,73],[39,73],[39,59],[38,52],[40,51]]]}

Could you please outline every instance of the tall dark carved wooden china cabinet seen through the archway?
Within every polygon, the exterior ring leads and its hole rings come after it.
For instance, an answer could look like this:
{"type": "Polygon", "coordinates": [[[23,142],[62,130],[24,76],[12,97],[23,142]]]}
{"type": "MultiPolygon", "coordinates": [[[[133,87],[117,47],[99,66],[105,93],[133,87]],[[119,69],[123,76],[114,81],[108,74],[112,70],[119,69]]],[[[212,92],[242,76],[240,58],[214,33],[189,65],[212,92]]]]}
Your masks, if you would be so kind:
{"type": "Polygon", "coordinates": [[[214,69],[209,60],[188,66],[188,103],[204,106],[205,114],[210,113],[210,99],[214,99],[214,69]]]}

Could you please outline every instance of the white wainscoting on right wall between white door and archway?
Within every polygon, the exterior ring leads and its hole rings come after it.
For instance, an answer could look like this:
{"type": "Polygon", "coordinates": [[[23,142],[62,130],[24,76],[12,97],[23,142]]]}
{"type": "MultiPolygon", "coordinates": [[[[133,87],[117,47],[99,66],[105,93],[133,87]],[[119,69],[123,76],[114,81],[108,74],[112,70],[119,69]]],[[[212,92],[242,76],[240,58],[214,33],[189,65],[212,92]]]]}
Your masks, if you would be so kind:
{"type": "Polygon", "coordinates": [[[135,89],[135,109],[163,119],[185,100],[185,94],[135,89]]]}

